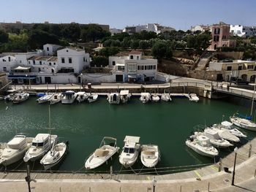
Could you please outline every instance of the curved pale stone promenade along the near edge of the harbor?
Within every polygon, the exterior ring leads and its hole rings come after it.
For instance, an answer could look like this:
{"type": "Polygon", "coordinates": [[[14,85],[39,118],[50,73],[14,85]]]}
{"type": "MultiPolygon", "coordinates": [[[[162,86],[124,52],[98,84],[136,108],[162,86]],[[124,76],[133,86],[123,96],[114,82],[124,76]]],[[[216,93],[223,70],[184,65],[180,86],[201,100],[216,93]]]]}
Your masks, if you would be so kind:
{"type": "MultiPolygon", "coordinates": [[[[256,191],[255,174],[256,138],[217,164],[189,172],[159,175],[32,172],[31,191],[256,191]],[[232,186],[235,157],[235,185],[232,186]]],[[[25,177],[25,172],[2,172],[1,192],[28,191],[25,177]]]]}

